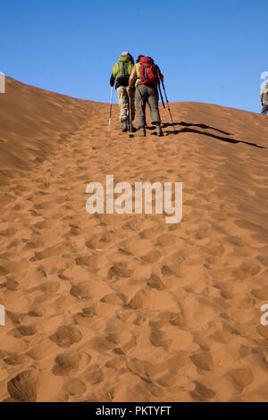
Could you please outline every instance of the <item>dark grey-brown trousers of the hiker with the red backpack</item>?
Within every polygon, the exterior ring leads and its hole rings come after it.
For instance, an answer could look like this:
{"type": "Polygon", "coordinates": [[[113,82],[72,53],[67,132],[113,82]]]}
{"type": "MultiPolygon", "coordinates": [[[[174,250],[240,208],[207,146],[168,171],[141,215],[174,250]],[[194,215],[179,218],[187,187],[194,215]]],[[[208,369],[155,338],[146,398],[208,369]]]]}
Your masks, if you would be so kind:
{"type": "Polygon", "coordinates": [[[158,108],[158,90],[157,86],[151,88],[146,85],[138,85],[135,92],[137,115],[138,115],[138,128],[145,127],[146,125],[146,105],[149,104],[151,113],[152,124],[160,123],[160,115],[158,108]]]}

